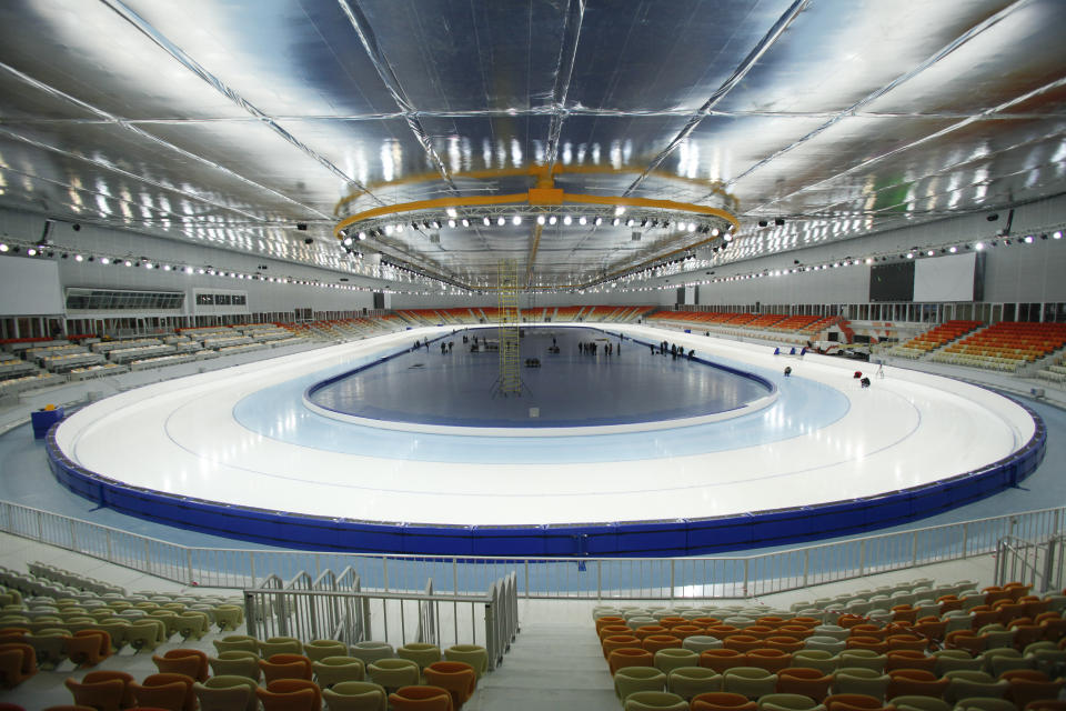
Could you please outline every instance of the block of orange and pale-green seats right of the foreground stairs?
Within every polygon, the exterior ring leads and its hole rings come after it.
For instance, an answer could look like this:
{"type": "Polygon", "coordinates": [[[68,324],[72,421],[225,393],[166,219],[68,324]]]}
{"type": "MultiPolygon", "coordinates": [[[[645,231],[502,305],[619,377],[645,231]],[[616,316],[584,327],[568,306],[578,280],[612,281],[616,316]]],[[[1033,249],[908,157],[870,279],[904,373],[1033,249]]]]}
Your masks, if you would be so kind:
{"type": "Polygon", "coordinates": [[[626,711],[1052,708],[1064,687],[1066,621],[1050,608],[1060,609],[1066,595],[1028,593],[1020,583],[977,591],[972,581],[921,580],[787,611],[597,608],[593,614],[626,711]],[[915,605],[928,593],[944,593],[943,618],[917,618],[915,605]],[[971,598],[979,604],[963,609],[971,598]],[[874,607],[889,602],[898,604],[874,607]],[[868,615],[882,610],[889,617],[868,615]],[[985,613],[998,621],[985,624],[992,619],[985,613]],[[953,623],[958,629],[949,630],[953,623]]]}

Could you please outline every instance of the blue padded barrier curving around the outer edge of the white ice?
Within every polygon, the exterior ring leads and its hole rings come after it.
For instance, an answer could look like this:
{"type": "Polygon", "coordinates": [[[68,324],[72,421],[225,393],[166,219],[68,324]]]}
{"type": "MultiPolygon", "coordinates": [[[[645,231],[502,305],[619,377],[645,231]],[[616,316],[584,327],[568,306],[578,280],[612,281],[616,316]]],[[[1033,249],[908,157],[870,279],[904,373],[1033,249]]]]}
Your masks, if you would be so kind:
{"type": "Polygon", "coordinates": [[[1044,421],[1010,455],[936,482],[844,501],[714,518],[551,525],[441,525],[273,511],[169,494],[109,479],[70,460],[47,437],[63,487],[120,513],[268,545],[336,552],[510,558],[674,557],[794,545],[916,521],[1017,487],[1044,459],[1044,421]]]}

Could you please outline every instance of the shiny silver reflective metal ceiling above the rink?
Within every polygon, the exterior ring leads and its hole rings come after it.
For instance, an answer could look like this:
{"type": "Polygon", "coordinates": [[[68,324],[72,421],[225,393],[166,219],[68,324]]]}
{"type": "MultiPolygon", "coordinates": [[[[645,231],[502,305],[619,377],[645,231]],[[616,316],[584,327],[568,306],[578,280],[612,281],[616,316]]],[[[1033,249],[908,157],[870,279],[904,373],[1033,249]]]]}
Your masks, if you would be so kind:
{"type": "MultiPolygon", "coordinates": [[[[715,259],[753,259],[1066,191],[1063,28],[1062,0],[9,0],[0,206],[343,270],[353,212],[549,176],[723,209],[715,259]]],[[[572,214],[360,249],[562,288],[710,244],[572,214]]]]}

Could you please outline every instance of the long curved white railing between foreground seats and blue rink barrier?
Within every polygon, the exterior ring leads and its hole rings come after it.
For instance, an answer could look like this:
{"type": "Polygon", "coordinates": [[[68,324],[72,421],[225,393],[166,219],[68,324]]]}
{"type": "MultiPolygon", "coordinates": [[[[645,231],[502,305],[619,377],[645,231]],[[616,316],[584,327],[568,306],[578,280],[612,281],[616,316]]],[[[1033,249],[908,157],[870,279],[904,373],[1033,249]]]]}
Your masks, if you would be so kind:
{"type": "Polygon", "coordinates": [[[1046,509],[751,555],[707,558],[476,558],[190,548],[0,502],[0,531],[187,585],[251,589],[274,575],[351,568],[363,589],[453,595],[489,590],[510,571],[517,593],[542,599],[743,599],[871,573],[994,553],[1005,537],[1047,540],[1066,509],[1046,509]]]}

